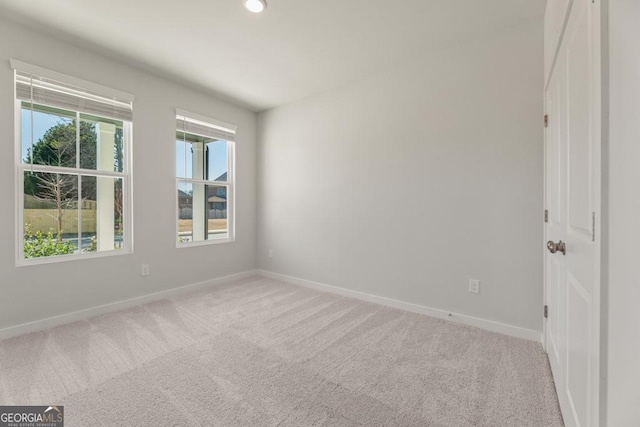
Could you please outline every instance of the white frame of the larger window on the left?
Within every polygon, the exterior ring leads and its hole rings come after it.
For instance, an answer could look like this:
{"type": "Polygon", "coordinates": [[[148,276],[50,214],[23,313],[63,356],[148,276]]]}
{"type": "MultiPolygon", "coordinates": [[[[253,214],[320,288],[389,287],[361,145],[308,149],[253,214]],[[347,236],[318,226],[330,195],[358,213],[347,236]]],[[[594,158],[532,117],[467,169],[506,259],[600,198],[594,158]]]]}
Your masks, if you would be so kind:
{"type": "MultiPolygon", "coordinates": [[[[15,61],[18,66],[22,66],[20,71],[36,70],[38,74],[44,74],[45,76],[55,76],[56,78],[61,79],[61,81],[73,82],[74,84],[85,85],[88,88],[99,88],[102,89],[105,93],[117,93],[121,94],[124,92],[119,92],[116,90],[111,90],[106,87],[102,87],[95,83],[86,82],[75,77],[66,76],[55,71],[49,71],[44,68],[29,66],[28,64],[22,64],[15,61]],[[27,68],[26,70],[23,69],[27,68]]],[[[41,265],[41,264],[51,264],[57,262],[67,262],[67,261],[76,261],[82,259],[94,259],[94,258],[103,258],[110,256],[121,256],[121,255],[130,255],[133,253],[133,197],[132,197],[132,137],[133,137],[133,122],[127,120],[116,119],[123,123],[123,165],[122,172],[111,172],[111,171],[101,171],[101,170],[93,170],[93,169],[82,169],[79,167],[79,164],[76,163],[77,167],[60,167],[60,166],[50,166],[50,165],[39,165],[30,163],[24,163],[22,160],[22,102],[18,99],[16,94],[16,73],[17,68],[14,66],[14,61],[11,63],[14,68],[14,84],[13,84],[13,100],[14,100],[14,164],[15,164],[15,262],[17,267],[30,266],[30,265],[41,265]],[[33,169],[32,169],[33,168],[33,169]],[[64,173],[68,175],[74,176],[84,176],[84,177],[107,177],[114,179],[122,179],[122,212],[124,218],[123,227],[123,246],[117,250],[107,250],[107,251],[96,251],[96,252],[77,252],[73,254],[66,255],[52,255],[52,256],[44,256],[37,258],[25,258],[24,256],[24,173],[29,171],[37,171],[37,172],[49,172],[49,173],[64,173]]],[[[34,73],[35,74],[35,73],[34,73]]],[[[133,101],[133,96],[131,97],[133,101]]],[[[40,102],[34,102],[34,105],[44,105],[46,104],[40,102]]],[[[65,110],[63,108],[55,107],[61,110],[65,110]]],[[[66,110],[75,113],[77,124],[79,126],[80,117],[82,113],[80,111],[72,111],[66,110]]],[[[90,114],[89,114],[90,115],[90,114]]],[[[106,118],[106,117],[105,117],[106,118]]],[[[79,209],[80,211],[80,209],[79,209]]]]}

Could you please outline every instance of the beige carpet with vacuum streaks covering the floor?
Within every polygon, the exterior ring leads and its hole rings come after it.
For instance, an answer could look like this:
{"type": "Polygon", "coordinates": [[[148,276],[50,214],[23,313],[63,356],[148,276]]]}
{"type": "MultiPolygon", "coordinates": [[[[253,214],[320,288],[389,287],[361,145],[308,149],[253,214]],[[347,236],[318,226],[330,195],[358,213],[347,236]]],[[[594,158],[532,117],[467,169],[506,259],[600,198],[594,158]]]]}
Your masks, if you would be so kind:
{"type": "Polygon", "coordinates": [[[66,426],[562,426],[538,343],[255,277],[0,342],[66,426]]]}

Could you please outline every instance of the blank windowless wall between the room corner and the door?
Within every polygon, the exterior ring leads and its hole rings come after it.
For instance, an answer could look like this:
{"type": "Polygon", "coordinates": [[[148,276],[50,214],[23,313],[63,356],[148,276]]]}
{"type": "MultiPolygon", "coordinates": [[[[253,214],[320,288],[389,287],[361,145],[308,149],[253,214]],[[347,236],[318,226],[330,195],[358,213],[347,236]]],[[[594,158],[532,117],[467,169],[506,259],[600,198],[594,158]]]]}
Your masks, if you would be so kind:
{"type": "Polygon", "coordinates": [[[259,267],[541,331],[542,22],[371,75],[259,116],[259,267]]]}

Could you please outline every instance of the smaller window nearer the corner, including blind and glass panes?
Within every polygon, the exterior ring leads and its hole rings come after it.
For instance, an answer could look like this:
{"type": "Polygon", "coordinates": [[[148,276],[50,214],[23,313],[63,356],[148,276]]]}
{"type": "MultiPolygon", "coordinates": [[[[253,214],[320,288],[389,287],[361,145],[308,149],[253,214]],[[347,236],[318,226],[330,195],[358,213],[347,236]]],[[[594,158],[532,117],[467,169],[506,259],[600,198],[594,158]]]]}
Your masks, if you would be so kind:
{"type": "Polygon", "coordinates": [[[235,126],[176,112],[178,246],[234,239],[235,126]]]}

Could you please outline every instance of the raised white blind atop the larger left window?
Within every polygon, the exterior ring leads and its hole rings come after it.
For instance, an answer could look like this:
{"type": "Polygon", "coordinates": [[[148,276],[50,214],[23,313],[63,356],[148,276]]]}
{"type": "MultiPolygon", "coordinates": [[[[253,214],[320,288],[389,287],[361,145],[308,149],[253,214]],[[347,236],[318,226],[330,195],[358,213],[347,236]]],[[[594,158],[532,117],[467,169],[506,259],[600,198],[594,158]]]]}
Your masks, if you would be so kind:
{"type": "Polygon", "coordinates": [[[11,60],[16,98],[35,104],[131,122],[133,96],[125,92],[11,60]]]}

